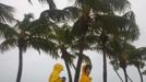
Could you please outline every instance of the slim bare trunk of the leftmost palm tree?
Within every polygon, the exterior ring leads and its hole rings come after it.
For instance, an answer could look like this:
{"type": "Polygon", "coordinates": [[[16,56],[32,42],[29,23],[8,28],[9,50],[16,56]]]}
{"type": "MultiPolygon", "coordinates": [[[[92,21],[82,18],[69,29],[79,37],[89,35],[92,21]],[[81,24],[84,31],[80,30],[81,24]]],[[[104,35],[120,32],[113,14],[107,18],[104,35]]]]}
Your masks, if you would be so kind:
{"type": "Polygon", "coordinates": [[[21,78],[22,78],[22,68],[23,68],[23,52],[22,52],[22,48],[20,47],[20,54],[19,54],[19,71],[17,71],[17,77],[16,77],[16,82],[21,82],[21,78]]]}

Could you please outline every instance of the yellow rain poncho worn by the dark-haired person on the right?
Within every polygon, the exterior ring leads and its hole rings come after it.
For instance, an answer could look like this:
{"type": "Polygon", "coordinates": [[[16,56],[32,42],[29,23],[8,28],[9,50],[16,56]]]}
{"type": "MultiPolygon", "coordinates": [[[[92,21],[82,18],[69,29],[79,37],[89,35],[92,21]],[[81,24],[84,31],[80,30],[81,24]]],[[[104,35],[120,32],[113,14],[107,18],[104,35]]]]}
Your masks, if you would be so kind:
{"type": "Polygon", "coordinates": [[[92,78],[85,73],[85,67],[82,69],[80,82],[92,82],[92,78]]]}

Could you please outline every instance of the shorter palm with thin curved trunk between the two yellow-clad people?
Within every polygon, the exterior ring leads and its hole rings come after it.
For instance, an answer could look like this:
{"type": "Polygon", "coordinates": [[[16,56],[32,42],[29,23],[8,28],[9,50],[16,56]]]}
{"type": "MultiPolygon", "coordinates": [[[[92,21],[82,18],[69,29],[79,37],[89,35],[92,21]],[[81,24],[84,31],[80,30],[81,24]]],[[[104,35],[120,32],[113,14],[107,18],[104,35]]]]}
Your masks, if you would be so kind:
{"type": "Polygon", "coordinates": [[[72,73],[70,66],[73,65],[73,59],[75,58],[75,56],[68,51],[73,40],[71,27],[68,24],[63,24],[61,27],[54,27],[53,37],[51,39],[57,42],[57,49],[61,51],[61,58],[64,60],[68,70],[69,82],[72,82],[72,73]]]}

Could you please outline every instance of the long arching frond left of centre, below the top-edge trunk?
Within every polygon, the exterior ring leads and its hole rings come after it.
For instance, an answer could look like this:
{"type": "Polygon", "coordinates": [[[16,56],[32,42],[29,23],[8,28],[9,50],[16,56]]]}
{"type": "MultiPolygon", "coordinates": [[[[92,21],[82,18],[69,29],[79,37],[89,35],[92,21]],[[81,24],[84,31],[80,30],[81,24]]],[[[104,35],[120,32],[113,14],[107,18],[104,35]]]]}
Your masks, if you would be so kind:
{"type": "Polygon", "coordinates": [[[46,10],[41,12],[40,19],[48,19],[54,22],[69,22],[70,20],[75,20],[80,15],[80,9],[75,7],[68,7],[63,10],[46,10]]]}

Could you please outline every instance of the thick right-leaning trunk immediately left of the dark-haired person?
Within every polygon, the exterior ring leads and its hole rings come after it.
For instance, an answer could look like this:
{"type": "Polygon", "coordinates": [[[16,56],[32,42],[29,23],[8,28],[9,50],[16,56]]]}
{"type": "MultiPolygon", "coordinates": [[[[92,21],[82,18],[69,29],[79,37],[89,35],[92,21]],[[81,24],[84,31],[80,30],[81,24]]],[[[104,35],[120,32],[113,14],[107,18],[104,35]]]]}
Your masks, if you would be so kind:
{"type": "Polygon", "coordinates": [[[81,74],[81,66],[82,66],[82,59],[83,59],[83,49],[80,50],[78,59],[77,59],[77,66],[75,70],[75,77],[74,77],[74,82],[78,82],[80,80],[80,74],[81,74]]]}

